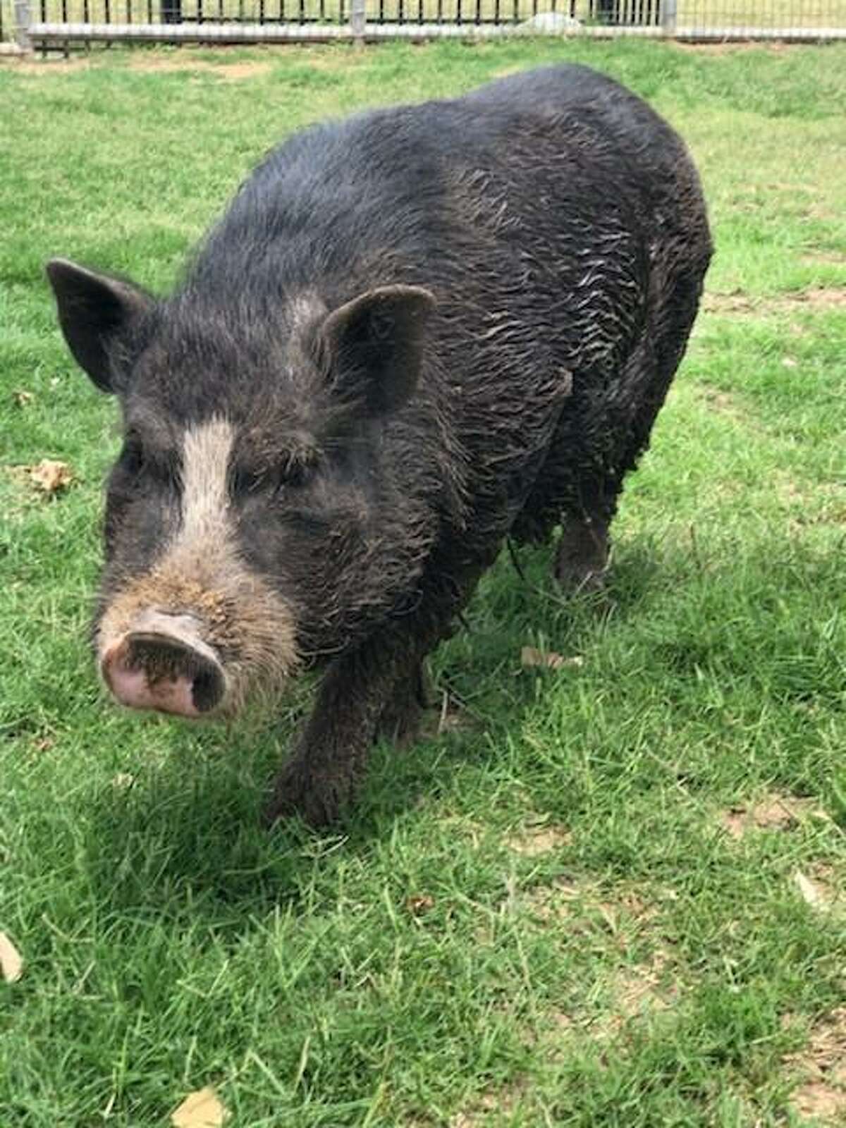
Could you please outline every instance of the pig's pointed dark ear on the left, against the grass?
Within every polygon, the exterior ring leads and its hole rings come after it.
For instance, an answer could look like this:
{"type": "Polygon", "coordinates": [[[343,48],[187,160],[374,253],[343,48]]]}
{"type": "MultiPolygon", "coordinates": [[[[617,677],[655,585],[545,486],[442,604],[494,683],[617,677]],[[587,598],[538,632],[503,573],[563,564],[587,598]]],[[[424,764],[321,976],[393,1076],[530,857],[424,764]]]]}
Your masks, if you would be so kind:
{"type": "Polygon", "coordinates": [[[52,258],[46,270],[68,347],[98,388],[114,391],[109,347],[152,308],[153,299],[129,282],[67,258],[52,258]]]}

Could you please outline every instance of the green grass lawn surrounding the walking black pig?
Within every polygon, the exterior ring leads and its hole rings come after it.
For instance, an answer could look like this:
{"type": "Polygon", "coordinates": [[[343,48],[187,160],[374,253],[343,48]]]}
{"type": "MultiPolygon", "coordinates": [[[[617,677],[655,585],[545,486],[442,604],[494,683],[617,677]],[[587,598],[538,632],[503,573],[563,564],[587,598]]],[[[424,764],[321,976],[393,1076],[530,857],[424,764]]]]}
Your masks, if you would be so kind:
{"type": "Polygon", "coordinates": [[[0,929],[26,961],[0,982],[2,1128],[155,1128],[204,1085],[235,1128],[844,1116],[845,71],[838,47],[632,43],[0,70],[0,929]],[[433,662],[466,723],[380,749],[336,835],[265,835],[302,695],[196,730],[97,688],[114,408],[43,262],[164,290],[290,130],[561,58],[681,130],[717,246],[607,601],[503,558],[433,662]],[[65,491],[14,469],[42,458],[65,491]],[[523,645],[580,663],[521,669],[523,645]]]}

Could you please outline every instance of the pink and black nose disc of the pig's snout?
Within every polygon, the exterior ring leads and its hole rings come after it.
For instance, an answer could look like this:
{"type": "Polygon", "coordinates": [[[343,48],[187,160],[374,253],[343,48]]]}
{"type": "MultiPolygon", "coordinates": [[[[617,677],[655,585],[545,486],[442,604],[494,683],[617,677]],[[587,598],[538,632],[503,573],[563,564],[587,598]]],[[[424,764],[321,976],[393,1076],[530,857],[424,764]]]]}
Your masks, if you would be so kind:
{"type": "Polygon", "coordinates": [[[191,615],[144,611],[100,659],[103,678],[131,708],[199,717],[220,704],[226,678],[191,615]]]}

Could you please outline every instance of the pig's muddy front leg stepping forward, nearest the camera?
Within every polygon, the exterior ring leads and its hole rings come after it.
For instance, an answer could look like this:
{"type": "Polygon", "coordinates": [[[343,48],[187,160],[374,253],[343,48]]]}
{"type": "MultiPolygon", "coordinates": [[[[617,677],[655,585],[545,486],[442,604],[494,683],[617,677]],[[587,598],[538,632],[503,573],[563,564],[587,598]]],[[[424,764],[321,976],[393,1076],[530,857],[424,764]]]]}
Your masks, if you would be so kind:
{"type": "Polygon", "coordinates": [[[386,698],[399,679],[414,679],[412,647],[376,641],[336,659],[324,675],[311,715],[294,740],[265,810],[268,823],[301,814],[311,826],[334,822],[364,773],[386,698]]]}

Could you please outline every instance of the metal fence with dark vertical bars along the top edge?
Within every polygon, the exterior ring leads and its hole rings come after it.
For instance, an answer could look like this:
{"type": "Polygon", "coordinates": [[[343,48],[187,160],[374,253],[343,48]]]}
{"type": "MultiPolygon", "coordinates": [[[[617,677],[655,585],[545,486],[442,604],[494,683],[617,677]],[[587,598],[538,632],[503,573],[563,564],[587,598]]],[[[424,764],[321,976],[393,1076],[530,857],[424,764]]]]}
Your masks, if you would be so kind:
{"type": "Polygon", "coordinates": [[[548,34],[846,39],[846,0],[0,0],[0,41],[24,50],[548,34]]]}

